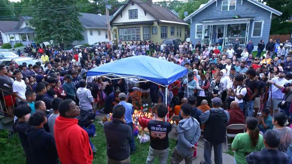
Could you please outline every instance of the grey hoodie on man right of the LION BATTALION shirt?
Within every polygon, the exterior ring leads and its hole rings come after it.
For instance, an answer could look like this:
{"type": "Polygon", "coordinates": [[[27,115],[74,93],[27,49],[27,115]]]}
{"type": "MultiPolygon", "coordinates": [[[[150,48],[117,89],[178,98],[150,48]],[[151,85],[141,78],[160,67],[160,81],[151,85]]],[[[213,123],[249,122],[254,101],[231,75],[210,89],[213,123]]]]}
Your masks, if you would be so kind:
{"type": "Polygon", "coordinates": [[[201,135],[199,122],[193,117],[182,119],[179,121],[177,132],[179,133],[177,152],[182,155],[193,154],[192,147],[195,146],[201,135]]]}

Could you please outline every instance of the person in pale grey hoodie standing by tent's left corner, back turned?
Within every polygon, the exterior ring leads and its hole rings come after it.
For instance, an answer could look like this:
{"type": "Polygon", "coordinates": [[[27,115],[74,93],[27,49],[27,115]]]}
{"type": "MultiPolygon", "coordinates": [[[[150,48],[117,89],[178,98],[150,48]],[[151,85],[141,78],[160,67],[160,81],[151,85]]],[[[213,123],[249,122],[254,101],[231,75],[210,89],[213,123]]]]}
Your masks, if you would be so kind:
{"type": "Polygon", "coordinates": [[[79,99],[80,112],[92,111],[93,112],[93,97],[91,91],[86,88],[85,80],[79,81],[80,87],[78,88],[76,95],[79,99]]]}

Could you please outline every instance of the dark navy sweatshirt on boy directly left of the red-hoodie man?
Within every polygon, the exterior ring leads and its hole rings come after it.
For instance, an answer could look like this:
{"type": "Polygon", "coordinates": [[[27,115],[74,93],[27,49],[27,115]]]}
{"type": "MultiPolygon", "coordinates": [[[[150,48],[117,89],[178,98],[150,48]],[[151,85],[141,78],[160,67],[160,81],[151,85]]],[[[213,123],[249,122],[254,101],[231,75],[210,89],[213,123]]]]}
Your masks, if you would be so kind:
{"type": "Polygon", "coordinates": [[[32,155],[31,164],[58,164],[58,154],[54,137],[44,128],[30,127],[26,131],[32,155]]]}

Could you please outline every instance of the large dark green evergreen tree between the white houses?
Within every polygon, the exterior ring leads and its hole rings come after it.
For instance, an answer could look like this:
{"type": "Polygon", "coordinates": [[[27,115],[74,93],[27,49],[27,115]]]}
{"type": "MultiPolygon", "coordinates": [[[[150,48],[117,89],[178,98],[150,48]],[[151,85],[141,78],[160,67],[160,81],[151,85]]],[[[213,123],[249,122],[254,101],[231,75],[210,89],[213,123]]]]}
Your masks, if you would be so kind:
{"type": "Polygon", "coordinates": [[[38,0],[35,6],[46,6],[46,9],[36,8],[33,19],[29,21],[36,32],[35,42],[71,43],[83,40],[84,30],[78,16],[77,0],[38,0]],[[71,7],[54,8],[54,6],[71,7]]]}

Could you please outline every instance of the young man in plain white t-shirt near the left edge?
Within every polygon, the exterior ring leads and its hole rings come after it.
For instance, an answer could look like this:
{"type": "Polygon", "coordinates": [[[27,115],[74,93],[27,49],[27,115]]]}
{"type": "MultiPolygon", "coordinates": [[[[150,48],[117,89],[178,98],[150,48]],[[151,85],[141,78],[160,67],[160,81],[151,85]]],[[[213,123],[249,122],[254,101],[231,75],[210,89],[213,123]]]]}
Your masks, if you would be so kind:
{"type": "Polygon", "coordinates": [[[16,80],[12,84],[13,94],[16,96],[17,101],[25,101],[25,91],[26,91],[26,84],[24,80],[21,80],[23,77],[20,70],[16,70],[14,72],[14,76],[16,80]]]}

